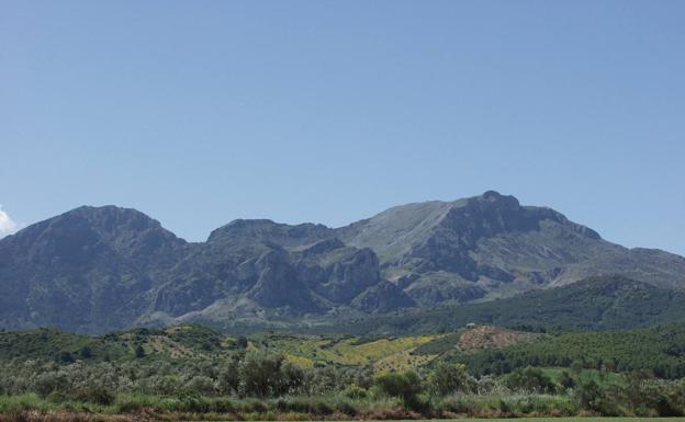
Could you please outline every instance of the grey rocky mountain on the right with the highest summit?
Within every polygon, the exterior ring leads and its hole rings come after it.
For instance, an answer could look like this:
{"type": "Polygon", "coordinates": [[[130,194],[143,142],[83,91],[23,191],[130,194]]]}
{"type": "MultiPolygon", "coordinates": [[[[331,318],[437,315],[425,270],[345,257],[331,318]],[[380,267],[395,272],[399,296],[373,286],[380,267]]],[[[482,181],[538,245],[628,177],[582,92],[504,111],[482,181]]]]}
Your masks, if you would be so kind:
{"type": "Polygon", "coordinates": [[[561,213],[492,191],[394,207],[337,233],[372,248],[383,275],[423,305],[510,296],[599,274],[664,287],[685,283],[682,256],[628,250],[561,213]]]}

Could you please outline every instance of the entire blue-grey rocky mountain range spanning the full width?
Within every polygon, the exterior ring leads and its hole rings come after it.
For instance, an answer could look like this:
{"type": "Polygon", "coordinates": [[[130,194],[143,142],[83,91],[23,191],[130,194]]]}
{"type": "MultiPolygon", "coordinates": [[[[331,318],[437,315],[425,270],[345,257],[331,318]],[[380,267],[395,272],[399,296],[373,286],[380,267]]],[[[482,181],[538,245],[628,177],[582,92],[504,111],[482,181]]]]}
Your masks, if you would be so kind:
{"type": "Polygon", "coordinates": [[[99,333],[368,316],[613,274],[680,289],[685,259],[624,248],[493,191],[401,205],[340,228],[239,219],[204,242],[187,242],[135,209],[83,206],[0,240],[0,327],[99,333]]]}

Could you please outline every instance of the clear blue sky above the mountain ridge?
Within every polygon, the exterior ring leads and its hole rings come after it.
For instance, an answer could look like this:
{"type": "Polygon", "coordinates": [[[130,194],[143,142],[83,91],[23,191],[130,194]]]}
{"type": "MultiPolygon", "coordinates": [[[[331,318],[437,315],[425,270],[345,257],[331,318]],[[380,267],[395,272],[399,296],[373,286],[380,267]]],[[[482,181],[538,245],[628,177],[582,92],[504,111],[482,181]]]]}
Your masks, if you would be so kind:
{"type": "Polygon", "coordinates": [[[0,225],[486,190],[685,254],[685,1],[0,1],[0,225]]]}

